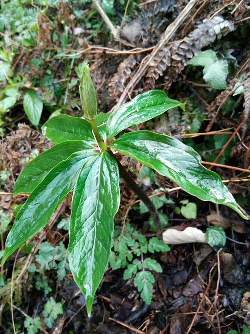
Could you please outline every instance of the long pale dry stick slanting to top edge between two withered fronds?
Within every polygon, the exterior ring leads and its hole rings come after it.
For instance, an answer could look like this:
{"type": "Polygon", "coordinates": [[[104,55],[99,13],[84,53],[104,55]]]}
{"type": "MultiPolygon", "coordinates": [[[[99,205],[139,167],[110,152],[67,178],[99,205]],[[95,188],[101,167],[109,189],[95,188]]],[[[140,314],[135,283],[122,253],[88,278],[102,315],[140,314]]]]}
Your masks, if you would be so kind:
{"type": "Polygon", "coordinates": [[[114,106],[114,109],[117,109],[125,100],[127,95],[132,91],[134,86],[140,81],[142,76],[146,73],[150,63],[154,59],[154,57],[157,55],[157,53],[163,48],[163,46],[170,40],[170,38],[173,36],[173,34],[176,32],[176,30],[179,28],[179,26],[183,23],[183,21],[186,19],[188,14],[190,13],[191,9],[195,5],[197,0],[190,0],[186,7],[183,9],[183,11],[178,15],[178,17],[174,20],[173,23],[171,23],[164,35],[161,37],[159,43],[157,46],[153,49],[150,56],[146,56],[146,59],[144,58],[141,62],[141,66],[139,67],[137,73],[132,77],[132,79],[129,81],[127,86],[125,87],[123,93],[121,94],[119,101],[114,106]]]}

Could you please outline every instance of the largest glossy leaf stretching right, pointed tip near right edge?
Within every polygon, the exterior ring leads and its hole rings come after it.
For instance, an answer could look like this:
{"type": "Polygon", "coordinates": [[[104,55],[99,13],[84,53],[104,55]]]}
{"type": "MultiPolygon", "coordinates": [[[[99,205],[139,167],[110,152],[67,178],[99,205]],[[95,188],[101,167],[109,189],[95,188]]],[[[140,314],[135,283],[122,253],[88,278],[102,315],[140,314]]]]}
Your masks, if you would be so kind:
{"type": "Polygon", "coordinates": [[[198,153],[179,140],[137,131],[124,134],[110,147],[169,177],[189,194],[203,201],[227,205],[247,219],[220,176],[203,167],[198,153]]]}

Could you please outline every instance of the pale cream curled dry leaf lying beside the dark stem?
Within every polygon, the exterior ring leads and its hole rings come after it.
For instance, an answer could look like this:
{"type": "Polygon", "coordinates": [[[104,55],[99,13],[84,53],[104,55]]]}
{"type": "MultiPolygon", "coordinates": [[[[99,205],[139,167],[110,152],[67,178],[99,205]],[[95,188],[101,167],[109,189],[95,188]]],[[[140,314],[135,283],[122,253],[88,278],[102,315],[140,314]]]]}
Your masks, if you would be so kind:
{"type": "Polygon", "coordinates": [[[169,228],[163,233],[163,241],[169,245],[190,242],[207,243],[205,233],[196,227],[187,227],[184,231],[169,228]]]}

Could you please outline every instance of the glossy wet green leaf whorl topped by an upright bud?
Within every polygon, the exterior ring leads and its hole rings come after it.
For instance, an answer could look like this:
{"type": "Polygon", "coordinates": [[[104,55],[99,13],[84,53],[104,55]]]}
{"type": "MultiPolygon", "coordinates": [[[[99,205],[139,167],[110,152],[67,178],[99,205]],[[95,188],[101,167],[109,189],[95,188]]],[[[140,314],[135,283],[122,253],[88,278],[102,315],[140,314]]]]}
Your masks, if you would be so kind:
{"type": "Polygon", "coordinates": [[[122,166],[115,158],[116,152],[156,170],[201,200],[227,205],[241,217],[247,217],[219,175],[204,168],[191,147],[175,138],[144,130],[124,133],[115,139],[125,129],[166,110],[184,108],[182,103],[153,90],[120,106],[103,122],[103,114],[97,115],[96,94],[87,65],[83,68],[80,97],[89,121],[67,115],[49,119],[43,134],[57,145],[33,159],[16,181],[15,195],[31,195],[8,234],[2,264],[47,225],[56,207],[74,189],[68,259],[90,316],[95,292],[108,264],[113,219],[120,204],[122,166]]]}

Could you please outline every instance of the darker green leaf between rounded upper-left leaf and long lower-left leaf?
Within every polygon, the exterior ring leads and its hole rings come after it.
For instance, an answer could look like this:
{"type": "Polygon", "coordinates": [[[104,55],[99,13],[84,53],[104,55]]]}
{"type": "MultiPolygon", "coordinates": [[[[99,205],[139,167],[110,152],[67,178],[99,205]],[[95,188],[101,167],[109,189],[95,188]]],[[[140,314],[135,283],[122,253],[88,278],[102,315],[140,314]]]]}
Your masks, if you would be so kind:
{"type": "Polygon", "coordinates": [[[71,154],[78,151],[86,151],[89,154],[89,151],[93,148],[91,143],[83,140],[75,140],[57,144],[41,153],[24,167],[15,182],[14,195],[20,192],[25,194],[31,193],[47,173],[62,160],[68,159],[71,154]]]}

